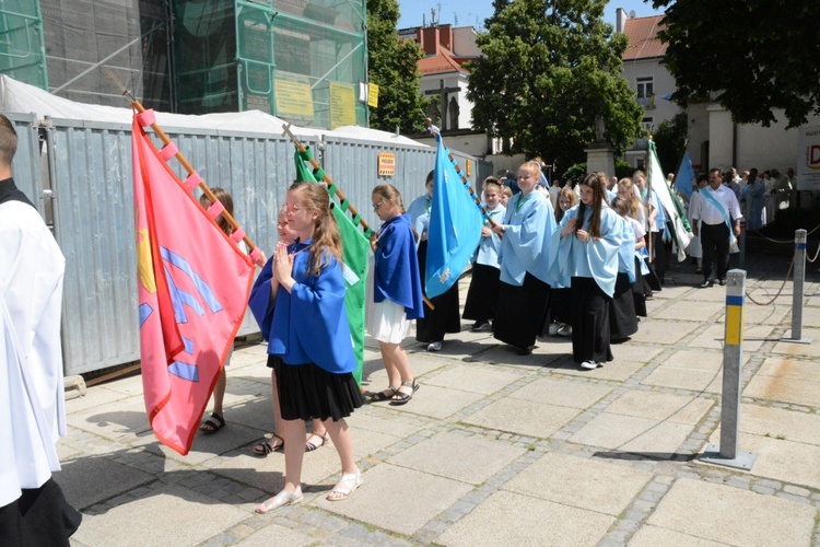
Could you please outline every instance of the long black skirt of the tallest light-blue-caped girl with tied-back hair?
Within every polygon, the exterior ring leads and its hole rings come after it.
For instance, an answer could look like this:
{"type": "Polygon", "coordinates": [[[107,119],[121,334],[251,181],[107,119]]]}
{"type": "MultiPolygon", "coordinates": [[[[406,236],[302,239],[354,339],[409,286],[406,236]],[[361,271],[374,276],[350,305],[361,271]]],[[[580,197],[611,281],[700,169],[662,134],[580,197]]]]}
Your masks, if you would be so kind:
{"type": "Polygon", "coordinates": [[[501,282],[493,336],[511,346],[528,348],[543,325],[550,286],[527,274],[520,287],[501,282]]]}

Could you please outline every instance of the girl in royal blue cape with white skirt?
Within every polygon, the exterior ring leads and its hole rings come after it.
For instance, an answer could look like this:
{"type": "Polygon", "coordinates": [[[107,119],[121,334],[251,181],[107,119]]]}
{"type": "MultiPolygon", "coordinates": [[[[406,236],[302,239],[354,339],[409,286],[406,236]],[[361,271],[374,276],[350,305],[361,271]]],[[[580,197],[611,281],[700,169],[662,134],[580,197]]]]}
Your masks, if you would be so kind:
{"type": "Polygon", "coordinates": [[[410,370],[401,340],[407,336],[410,322],[424,316],[415,240],[410,216],[405,213],[401,194],[395,186],[376,186],[371,200],[384,224],[372,243],[375,305],[368,309],[367,333],[378,340],[389,382],[385,391],[373,396],[373,400],[403,405],[412,398],[419,384],[410,370]]]}

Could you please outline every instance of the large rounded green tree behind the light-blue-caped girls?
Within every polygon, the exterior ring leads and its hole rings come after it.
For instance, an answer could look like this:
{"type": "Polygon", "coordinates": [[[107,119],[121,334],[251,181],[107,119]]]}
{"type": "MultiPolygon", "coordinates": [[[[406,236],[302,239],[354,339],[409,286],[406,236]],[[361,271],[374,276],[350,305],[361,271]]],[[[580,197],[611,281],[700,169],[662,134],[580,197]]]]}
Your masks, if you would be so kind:
{"type": "Polygon", "coordinates": [[[477,39],[483,55],[469,65],[473,126],[559,165],[585,161],[598,117],[616,148],[641,136],[643,109],[621,78],[626,36],[604,23],[605,4],[496,0],[477,39]]]}

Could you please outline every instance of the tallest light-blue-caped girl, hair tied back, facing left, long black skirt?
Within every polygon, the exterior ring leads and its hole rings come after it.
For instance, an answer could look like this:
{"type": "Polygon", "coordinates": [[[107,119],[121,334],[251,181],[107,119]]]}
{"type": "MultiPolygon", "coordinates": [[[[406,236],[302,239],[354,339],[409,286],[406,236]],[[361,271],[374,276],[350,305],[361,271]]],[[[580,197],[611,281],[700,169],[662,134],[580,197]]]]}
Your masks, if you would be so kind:
{"type": "Polygon", "coordinates": [[[518,167],[520,193],[509,199],[504,221],[493,228],[501,234],[501,291],[493,336],[532,352],[547,313],[551,279],[548,271],[550,236],[555,228],[550,198],[535,187],[541,176],[536,162],[518,167]]]}

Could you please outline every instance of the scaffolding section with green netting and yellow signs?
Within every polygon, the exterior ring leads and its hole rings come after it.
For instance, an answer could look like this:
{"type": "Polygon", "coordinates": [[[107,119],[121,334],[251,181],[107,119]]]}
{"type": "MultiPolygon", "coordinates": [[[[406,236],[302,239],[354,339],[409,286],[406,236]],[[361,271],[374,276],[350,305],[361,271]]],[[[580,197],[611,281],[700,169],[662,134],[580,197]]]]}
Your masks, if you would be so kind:
{"type": "Polygon", "coordinates": [[[174,0],[180,113],[259,109],[301,126],[367,125],[364,0],[174,0]]]}

